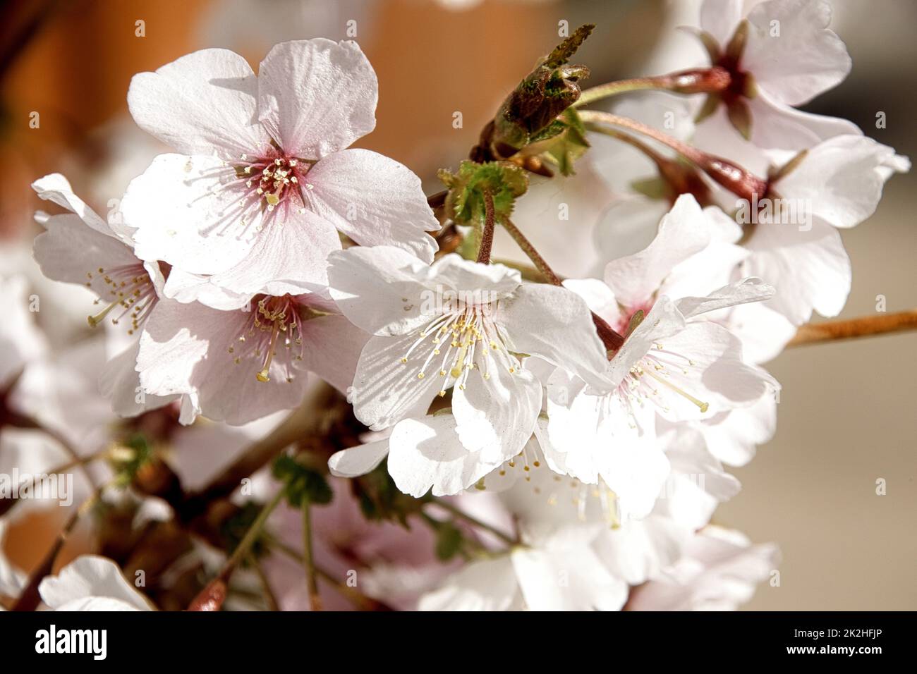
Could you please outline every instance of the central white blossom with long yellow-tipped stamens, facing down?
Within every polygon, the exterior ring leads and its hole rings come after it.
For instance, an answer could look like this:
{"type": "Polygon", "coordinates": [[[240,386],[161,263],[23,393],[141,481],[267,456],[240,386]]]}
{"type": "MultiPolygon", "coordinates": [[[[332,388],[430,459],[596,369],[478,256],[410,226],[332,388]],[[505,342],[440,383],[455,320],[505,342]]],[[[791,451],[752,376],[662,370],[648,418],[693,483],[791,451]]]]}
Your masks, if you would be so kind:
{"type": "Polygon", "coordinates": [[[425,414],[452,389],[462,446],[501,463],[525,445],[541,408],[525,355],[605,384],[604,348],[586,304],[568,290],[458,255],[427,267],[390,247],[348,249],[329,262],[341,312],[373,335],[348,392],[373,430],[425,414]]]}

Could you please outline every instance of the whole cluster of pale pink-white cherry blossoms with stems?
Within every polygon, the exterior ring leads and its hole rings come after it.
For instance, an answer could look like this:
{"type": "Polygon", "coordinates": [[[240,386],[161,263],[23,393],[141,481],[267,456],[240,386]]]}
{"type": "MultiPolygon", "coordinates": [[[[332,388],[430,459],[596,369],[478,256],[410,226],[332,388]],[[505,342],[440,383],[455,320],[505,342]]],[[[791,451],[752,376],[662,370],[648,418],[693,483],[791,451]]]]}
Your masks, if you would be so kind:
{"type": "MultiPolygon", "coordinates": [[[[471,160],[442,172],[438,198],[398,161],[351,147],[378,100],[353,41],[283,42],[257,73],[217,49],[139,73],[130,114],[171,151],[119,207],[98,214],[59,173],[32,185],[50,211],[36,215],[35,259],[94,293],[89,323],[105,339],[52,351],[26,289],[2,281],[4,409],[54,429],[5,429],[11,465],[65,463],[64,436],[83,499],[104,483],[142,521],[185,523],[189,500],[149,486],[150,466],[205,494],[293,423],[286,411],[311,413],[272,474],[230,491],[242,489],[238,516],[242,496],[285,496],[271,536],[288,548],[313,547],[299,522],[318,506],[326,604],[348,598],[335,588],[352,587],[352,569],[363,601],[422,610],[747,601],[777,548],[711,519],[740,489],[726,467],[774,433],[779,382],[764,364],[813,313],[842,310],[838,230],[872,215],[910,163],[799,109],[850,71],[826,2],[744,5],[704,2],[690,30],[709,62],[621,87],[656,91],[581,91],[565,41],[471,160]],[[523,101],[533,91],[544,98],[523,101]],[[526,231],[568,223],[527,222],[525,200],[574,191],[580,162],[613,198],[590,240],[534,249],[526,231]],[[532,262],[498,261],[494,229],[532,262]],[[327,441],[310,444],[319,428],[327,441]],[[101,450],[107,468],[87,466],[101,450]]],[[[190,547],[173,575],[193,559],[212,576],[233,552],[190,547]]],[[[282,606],[315,608],[302,563],[265,556],[282,606]]],[[[27,582],[0,558],[0,594],[27,582]]],[[[246,605],[233,587],[226,607],[246,605]]],[[[94,556],[39,586],[58,610],[152,608],[141,590],[94,556]]]]}

